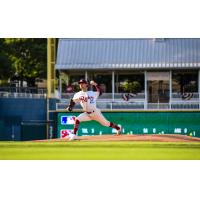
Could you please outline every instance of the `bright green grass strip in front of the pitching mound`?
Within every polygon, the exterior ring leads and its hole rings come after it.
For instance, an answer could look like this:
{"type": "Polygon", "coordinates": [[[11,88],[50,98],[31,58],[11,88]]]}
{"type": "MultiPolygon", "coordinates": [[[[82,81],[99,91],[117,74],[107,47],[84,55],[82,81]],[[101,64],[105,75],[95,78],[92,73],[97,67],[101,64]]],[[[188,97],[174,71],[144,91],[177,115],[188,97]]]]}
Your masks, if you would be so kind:
{"type": "Polygon", "coordinates": [[[200,143],[0,142],[1,160],[199,160],[200,143]]]}

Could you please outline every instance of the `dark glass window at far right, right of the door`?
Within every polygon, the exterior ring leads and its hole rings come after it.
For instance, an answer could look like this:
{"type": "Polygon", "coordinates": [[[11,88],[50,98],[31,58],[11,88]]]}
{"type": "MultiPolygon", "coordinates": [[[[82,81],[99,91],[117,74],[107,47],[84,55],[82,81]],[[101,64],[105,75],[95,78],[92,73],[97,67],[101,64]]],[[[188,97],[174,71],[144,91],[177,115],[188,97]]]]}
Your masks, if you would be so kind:
{"type": "Polygon", "coordinates": [[[198,71],[173,71],[172,92],[181,94],[198,92],[198,71]]]}

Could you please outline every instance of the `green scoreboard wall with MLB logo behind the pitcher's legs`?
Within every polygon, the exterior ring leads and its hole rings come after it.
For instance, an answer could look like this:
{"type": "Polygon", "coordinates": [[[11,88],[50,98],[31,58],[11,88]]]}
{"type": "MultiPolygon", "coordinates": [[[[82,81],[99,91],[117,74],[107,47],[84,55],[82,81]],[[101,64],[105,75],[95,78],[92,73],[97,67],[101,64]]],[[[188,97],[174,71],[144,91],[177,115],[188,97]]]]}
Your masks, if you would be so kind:
{"type": "MultiPolygon", "coordinates": [[[[74,117],[79,112],[57,113],[57,137],[73,131],[74,117]]],[[[125,134],[182,134],[200,137],[200,112],[104,112],[104,116],[122,126],[125,134]]],[[[96,121],[82,122],[78,135],[113,134],[115,129],[104,127],[96,121]]]]}

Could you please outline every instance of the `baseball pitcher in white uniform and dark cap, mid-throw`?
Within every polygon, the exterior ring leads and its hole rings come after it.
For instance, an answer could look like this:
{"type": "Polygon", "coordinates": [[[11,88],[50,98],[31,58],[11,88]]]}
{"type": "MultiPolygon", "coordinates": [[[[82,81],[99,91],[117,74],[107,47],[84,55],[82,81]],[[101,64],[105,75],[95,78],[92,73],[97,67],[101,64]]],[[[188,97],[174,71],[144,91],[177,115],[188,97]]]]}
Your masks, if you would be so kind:
{"type": "Polygon", "coordinates": [[[67,110],[72,111],[76,103],[80,103],[83,108],[83,113],[80,114],[75,119],[74,132],[69,136],[70,140],[76,138],[76,133],[79,127],[80,122],[96,120],[103,126],[112,127],[117,130],[117,135],[121,134],[121,127],[116,124],[109,122],[101,113],[101,111],[96,107],[96,100],[102,94],[100,87],[94,81],[90,81],[90,84],[95,86],[96,92],[88,91],[88,82],[84,79],[81,79],[79,82],[79,87],[81,91],[74,94],[74,97],[70,100],[67,110]]]}

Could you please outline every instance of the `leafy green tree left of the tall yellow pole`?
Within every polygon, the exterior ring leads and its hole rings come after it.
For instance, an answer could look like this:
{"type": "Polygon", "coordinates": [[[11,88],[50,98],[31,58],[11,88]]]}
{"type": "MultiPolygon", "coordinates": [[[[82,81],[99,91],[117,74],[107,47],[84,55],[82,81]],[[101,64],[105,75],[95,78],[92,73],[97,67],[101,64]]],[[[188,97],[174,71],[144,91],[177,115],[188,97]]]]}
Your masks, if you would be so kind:
{"type": "Polygon", "coordinates": [[[21,86],[23,81],[27,81],[31,87],[35,86],[37,78],[46,79],[46,38],[7,38],[5,43],[14,74],[19,77],[21,86]]]}

